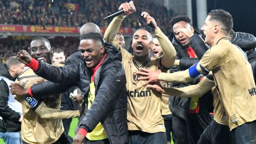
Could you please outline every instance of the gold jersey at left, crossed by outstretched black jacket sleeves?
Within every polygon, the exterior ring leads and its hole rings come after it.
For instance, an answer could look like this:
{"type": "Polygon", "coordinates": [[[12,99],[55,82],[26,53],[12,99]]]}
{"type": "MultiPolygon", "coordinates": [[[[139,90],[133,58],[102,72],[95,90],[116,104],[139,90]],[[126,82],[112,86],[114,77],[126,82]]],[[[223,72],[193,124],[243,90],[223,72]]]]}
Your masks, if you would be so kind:
{"type": "MultiPolygon", "coordinates": [[[[58,63],[53,63],[53,66],[63,66],[58,63]]],[[[34,84],[42,83],[46,79],[37,76],[32,69],[27,69],[20,74],[15,81],[22,85],[25,89],[34,84]]],[[[19,99],[19,96],[15,96],[19,99]]],[[[39,99],[35,98],[37,101],[39,99]]],[[[60,109],[61,94],[51,95],[47,98],[41,99],[46,107],[53,109],[60,109]]],[[[23,119],[21,123],[21,137],[27,143],[53,143],[57,141],[64,132],[61,119],[42,119],[40,118],[29,105],[22,105],[23,119]]]]}

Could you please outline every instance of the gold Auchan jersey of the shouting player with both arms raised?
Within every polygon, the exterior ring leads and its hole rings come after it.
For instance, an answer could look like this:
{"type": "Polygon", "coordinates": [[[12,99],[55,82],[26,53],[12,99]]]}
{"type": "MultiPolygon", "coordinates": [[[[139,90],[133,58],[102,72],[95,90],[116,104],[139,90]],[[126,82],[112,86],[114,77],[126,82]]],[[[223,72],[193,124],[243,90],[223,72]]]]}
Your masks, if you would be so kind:
{"type": "MultiPolygon", "coordinates": [[[[115,47],[119,48],[122,54],[122,65],[125,69],[127,81],[127,121],[129,131],[139,130],[148,133],[165,132],[164,120],[161,115],[162,94],[153,92],[152,90],[148,90],[146,86],[142,86],[146,81],[138,81],[138,76],[135,74],[140,67],[153,71],[158,70],[161,59],[149,58],[144,63],[136,63],[133,61],[133,55],[119,46],[115,38],[123,19],[124,17],[119,15],[111,21],[105,31],[104,39],[106,42],[112,43],[115,47]]],[[[170,40],[159,28],[154,30],[154,34],[157,37],[164,53],[170,56],[162,57],[162,59],[170,63],[174,63],[176,54],[170,40]],[[171,59],[167,60],[167,58],[171,59]]]]}

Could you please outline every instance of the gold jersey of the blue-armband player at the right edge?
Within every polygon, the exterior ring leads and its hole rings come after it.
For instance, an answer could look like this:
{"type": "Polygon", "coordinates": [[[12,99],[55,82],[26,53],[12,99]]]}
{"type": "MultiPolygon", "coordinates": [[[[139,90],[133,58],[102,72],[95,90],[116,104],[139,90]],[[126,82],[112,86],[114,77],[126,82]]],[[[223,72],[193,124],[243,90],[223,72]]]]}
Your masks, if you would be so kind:
{"type": "Polygon", "coordinates": [[[230,130],[256,119],[256,88],[250,63],[243,53],[222,38],[205,52],[197,65],[201,71],[212,70],[230,130]]]}

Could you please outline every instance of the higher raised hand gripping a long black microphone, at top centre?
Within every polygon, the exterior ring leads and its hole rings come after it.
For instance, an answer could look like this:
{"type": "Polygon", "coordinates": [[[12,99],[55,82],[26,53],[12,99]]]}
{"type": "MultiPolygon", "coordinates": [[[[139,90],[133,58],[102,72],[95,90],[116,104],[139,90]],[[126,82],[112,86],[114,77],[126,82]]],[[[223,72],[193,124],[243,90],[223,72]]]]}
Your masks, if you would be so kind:
{"type": "Polygon", "coordinates": [[[121,15],[123,13],[124,13],[124,15],[130,15],[136,11],[133,1],[130,1],[129,3],[127,3],[127,2],[122,3],[119,6],[118,10],[119,11],[108,15],[106,18],[104,18],[104,20],[112,19],[112,18],[117,17],[118,15],[121,15]]]}

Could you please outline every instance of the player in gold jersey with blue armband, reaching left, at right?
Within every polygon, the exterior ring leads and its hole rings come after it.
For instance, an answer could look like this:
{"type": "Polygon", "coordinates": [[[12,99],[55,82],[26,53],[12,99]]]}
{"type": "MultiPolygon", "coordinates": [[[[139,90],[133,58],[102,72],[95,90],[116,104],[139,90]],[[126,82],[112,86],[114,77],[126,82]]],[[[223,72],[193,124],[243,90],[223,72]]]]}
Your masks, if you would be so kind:
{"type": "Polygon", "coordinates": [[[212,10],[202,27],[205,43],[209,44],[211,49],[206,51],[196,65],[172,74],[151,73],[146,69],[146,73],[138,74],[145,75],[146,77],[141,79],[149,79],[147,83],[189,82],[199,74],[207,74],[211,70],[215,87],[227,113],[234,143],[250,143],[256,140],[256,88],[250,63],[227,38],[232,28],[233,19],[228,12],[212,10]]]}

